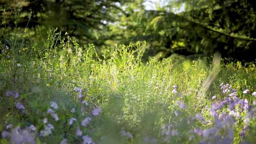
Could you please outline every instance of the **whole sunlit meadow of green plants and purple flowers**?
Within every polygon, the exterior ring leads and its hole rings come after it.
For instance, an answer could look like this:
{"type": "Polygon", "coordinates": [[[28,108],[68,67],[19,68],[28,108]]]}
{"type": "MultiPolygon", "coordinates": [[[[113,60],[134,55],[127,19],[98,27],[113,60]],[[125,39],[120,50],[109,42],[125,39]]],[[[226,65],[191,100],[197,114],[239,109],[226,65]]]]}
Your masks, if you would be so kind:
{"type": "Polygon", "coordinates": [[[44,43],[2,49],[0,144],[256,143],[254,62],[44,43]]]}

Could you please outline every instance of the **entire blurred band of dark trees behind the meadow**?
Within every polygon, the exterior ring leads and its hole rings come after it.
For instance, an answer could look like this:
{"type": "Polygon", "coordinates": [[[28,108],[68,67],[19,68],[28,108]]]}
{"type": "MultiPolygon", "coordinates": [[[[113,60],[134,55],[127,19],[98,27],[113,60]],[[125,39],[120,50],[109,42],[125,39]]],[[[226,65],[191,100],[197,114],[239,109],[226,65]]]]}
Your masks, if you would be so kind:
{"type": "Polygon", "coordinates": [[[53,33],[94,44],[101,53],[116,43],[146,41],[148,56],[219,52],[233,60],[256,59],[255,0],[0,0],[1,50],[33,47],[35,41],[50,48],[44,41],[55,28],[53,33]]]}

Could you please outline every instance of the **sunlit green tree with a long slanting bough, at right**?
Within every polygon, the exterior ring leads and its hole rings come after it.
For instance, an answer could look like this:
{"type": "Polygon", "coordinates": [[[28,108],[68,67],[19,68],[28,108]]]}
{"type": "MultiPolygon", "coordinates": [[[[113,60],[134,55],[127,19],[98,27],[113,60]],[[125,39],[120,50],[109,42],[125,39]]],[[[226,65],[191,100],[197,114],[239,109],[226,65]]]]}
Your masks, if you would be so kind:
{"type": "Polygon", "coordinates": [[[224,57],[254,61],[255,8],[254,0],[169,0],[162,7],[123,16],[116,31],[127,34],[125,39],[146,40],[151,52],[165,57],[219,51],[224,57]]]}

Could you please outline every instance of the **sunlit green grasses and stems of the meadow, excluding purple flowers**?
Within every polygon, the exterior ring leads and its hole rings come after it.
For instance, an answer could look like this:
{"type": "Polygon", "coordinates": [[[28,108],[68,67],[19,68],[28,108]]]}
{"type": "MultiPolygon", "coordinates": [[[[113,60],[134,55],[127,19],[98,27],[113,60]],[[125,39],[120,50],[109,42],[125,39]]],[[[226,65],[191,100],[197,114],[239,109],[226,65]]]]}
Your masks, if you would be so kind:
{"type": "MultiPolygon", "coordinates": [[[[89,126],[80,127],[82,133],[90,135],[95,142],[142,144],[146,136],[160,140],[163,125],[180,123],[176,127],[179,136],[169,143],[190,144],[197,143],[198,139],[190,141],[188,130],[209,128],[213,124],[187,124],[180,119],[201,113],[210,120],[207,107],[225,98],[220,90],[221,83],[232,85],[238,98],[248,99],[250,104],[254,100],[251,94],[242,92],[246,89],[256,91],[255,63],[242,66],[239,62],[224,64],[220,60],[218,71],[215,71],[215,64],[211,63],[214,58],[192,61],[172,55],[162,61],[151,57],[143,62],[145,43],[113,45],[100,53],[93,45],[80,46],[69,36],[60,38],[54,31],[49,34],[52,35],[48,36],[44,47],[34,44],[2,48],[0,132],[9,124],[34,125],[38,144],[59,143],[64,138],[71,144],[79,143],[82,138],[75,135],[76,128],[85,117],[91,117],[89,126]],[[209,78],[213,78],[212,81],[207,81],[209,78]],[[209,88],[203,89],[205,84],[209,88]],[[178,94],[172,92],[174,85],[178,94]],[[76,88],[82,89],[82,99],[78,98],[76,88]],[[19,97],[7,97],[7,91],[17,91],[19,97]],[[212,99],[213,96],[216,99],[212,99]],[[81,102],[83,100],[88,106],[81,102]],[[15,108],[17,101],[23,104],[25,111],[15,108]],[[46,113],[51,101],[59,106],[55,111],[58,121],[46,113]],[[182,110],[175,104],[177,101],[185,103],[187,108],[182,110]],[[100,115],[92,116],[91,111],[99,106],[102,108],[100,115]],[[76,109],[75,113],[71,113],[72,108],[76,109]],[[177,109],[179,116],[174,114],[177,109]],[[40,137],[46,117],[55,129],[51,135],[40,137]],[[69,126],[72,117],[77,118],[77,122],[69,126]],[[132,134],[132,138],[120,136],[121,129],[132,134]]],[[[251,126],[255,127],[255,121],[251,126]]],[[[234,143],[241,141],[239,128],[235,131],[234,143]]],[[[253,130],[255,132],[255,128],[253,130]]],[[[255,142],[255,137],[247,135],[255,142]]],[[[7,141],[1,139],[0,143],[7,141]]]]}

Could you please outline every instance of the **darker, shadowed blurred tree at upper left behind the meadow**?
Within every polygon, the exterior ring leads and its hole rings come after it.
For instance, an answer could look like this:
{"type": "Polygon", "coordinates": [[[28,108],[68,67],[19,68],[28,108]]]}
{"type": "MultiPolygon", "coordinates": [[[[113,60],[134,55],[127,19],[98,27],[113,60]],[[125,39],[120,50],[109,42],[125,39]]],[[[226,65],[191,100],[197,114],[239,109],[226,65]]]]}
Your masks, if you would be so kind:
{"type": "Polygon", "coordinates": [[[37,26],[57,27],[63,35],[68,32],[80,44],[104,45],[108,39],[108,23],[118,21],[120,13],[124,13],[121,6],[130,1],[1,0],[0,12],[4,15],[0,16],[3,19],[0,28],[12,30],[16,27],[15,19],[18,18],[17,27],[27,27],[35,31],[37,26]],[[18,17],[13,14],[17,8],[21,9],[18,17]]]}

